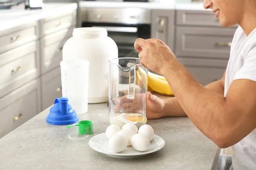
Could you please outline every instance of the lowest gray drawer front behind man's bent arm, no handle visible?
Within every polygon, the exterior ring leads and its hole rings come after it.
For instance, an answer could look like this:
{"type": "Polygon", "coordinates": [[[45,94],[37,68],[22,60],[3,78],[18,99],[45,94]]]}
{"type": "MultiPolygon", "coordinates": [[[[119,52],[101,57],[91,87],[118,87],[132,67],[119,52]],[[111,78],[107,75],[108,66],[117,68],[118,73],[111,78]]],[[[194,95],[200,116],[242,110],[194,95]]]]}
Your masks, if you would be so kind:
{"type": "Polygon", "coordinates": [[[177,57],[186,70],[201,85],[208,85],[223,77],[227,68],[227,59],[191,59],[177,57]]]}

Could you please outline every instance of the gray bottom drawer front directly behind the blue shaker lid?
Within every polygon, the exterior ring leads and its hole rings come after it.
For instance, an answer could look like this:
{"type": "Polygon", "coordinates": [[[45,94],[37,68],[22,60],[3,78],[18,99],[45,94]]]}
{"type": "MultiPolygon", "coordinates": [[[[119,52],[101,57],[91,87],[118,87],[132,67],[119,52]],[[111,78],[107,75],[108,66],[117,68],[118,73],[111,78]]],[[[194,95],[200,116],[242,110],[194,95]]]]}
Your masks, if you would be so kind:
{"type": "Polygon", "coordinates": [[[42,108],[47,109],[54,104],[54,100],[62,96],[61,68],[57,67],[42,77],[42,108]]]}

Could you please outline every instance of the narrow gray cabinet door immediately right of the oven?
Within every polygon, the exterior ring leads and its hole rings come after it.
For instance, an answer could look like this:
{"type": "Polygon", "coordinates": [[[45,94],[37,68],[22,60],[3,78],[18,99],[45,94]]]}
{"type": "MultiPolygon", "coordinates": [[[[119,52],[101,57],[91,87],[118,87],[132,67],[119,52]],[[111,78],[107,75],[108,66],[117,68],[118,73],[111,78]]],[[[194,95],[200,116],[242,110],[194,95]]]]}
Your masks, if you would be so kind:
{"type": "Polygon", "coordinates": [[[169,48],[174,50],[175,31],[174,10],[152,10],[151,38],[165,42],[169,48]]]}

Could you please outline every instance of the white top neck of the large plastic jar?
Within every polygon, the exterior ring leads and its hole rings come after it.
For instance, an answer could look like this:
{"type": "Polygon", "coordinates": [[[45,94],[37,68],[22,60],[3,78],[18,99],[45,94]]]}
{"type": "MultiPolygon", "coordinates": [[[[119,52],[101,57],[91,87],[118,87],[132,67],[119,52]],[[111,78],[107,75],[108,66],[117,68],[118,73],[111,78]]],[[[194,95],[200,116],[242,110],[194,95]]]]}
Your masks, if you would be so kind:
{"type": "Polygon", "coordinates": [[[73,29],[73,37],[98,38],[108,36],[106,28],[82,27],[73,29]]]}

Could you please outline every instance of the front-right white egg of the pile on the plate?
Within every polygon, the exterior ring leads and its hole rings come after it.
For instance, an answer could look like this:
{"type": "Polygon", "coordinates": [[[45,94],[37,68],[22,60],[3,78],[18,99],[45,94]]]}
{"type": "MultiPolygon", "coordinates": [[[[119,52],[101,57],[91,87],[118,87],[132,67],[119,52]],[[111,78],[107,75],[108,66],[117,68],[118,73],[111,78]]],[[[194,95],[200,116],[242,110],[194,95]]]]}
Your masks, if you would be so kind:
{"type": "Polygon", "coordinates": [[[131,137],[131,146],[135,150],[143,152],[145,150],[148,150],[150,142],[147,136],[137,133],[131,137]]]}

